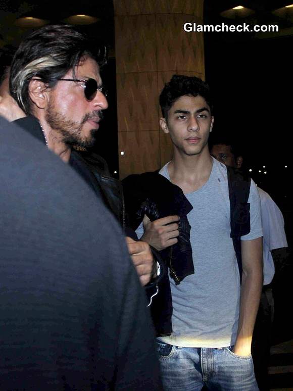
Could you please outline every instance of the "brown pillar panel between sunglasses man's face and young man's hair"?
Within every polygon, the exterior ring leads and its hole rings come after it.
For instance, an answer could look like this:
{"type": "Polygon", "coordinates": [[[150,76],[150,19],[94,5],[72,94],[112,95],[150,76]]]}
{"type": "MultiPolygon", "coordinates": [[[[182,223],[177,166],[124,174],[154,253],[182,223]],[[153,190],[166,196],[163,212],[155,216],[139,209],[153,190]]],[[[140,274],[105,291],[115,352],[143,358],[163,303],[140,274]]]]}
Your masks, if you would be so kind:
{"type": "Polygon", "coordinates": [[[158,73],[118,73],[119,132],[158,130],[158,73]]]}

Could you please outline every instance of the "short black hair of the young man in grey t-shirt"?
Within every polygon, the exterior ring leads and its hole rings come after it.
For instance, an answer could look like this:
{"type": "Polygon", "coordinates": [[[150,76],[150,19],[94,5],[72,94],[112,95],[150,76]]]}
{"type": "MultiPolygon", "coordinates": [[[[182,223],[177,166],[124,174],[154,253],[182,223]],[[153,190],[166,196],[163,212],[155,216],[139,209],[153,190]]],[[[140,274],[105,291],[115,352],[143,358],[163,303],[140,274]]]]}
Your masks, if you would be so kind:
{"type": "Polygon", "coordinates": [[[160,94],[162,115],[166,120],[174,102],[184,95],[202,96],[213,112],[210,87],[205,81],[196,76],[173,75],[160,94]]]}

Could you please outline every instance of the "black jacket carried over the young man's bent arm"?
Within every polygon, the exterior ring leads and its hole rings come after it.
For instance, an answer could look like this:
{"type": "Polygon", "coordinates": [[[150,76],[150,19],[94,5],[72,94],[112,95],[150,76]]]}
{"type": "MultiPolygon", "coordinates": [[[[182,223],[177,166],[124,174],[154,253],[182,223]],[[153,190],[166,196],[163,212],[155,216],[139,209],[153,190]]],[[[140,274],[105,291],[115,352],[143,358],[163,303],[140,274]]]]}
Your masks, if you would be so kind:
{"type": "MultiPolygon", "coordinates": [[[[179,284],[186,276],[194,273],[190,225],[187,220],[191,204],[182,189],[159,174],[159,171],[130,175],[122,183],[129,225],[134,230],[142,222],[144,214],[151,221],[170,215],[180,217],[178,242],[160,252],[170,276],[179,284]]],[[[153,299],[151,312],[157,334],[170,334],[172,297],[167,273],[160,281],[159,293],[153,299]]]]}

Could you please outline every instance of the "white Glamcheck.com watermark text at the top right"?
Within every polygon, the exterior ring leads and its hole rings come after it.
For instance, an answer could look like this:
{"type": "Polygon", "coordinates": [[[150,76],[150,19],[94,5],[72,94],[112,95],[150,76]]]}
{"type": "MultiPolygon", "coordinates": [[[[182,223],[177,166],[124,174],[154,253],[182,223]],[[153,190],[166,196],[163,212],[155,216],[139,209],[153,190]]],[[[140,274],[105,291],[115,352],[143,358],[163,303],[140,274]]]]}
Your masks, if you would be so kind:
{"type": "Polygon", "coordinates": [[[258,25],[255,24],[251,26],[250,24],[243,23],[238,25],[227,25],[225,23],[222,24],[197,24],[194,23],[184,23],[183,26],[184,31],[186,32],[278,32],[278,25],[258,25]]]}

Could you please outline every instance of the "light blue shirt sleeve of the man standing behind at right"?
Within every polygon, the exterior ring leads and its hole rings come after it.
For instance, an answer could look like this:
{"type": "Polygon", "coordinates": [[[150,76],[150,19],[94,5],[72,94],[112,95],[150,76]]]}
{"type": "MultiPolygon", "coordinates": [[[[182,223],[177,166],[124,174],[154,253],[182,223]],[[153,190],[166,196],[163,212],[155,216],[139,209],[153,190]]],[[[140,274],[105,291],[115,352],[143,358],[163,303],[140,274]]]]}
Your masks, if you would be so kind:
{"type": "Polygon", "coordinates": [[[264,241],[268,249],[271,251],[288,247],[284,230],[284,218],[278,206],[267,196],[261,198],[261,208],[264,241]]]}

